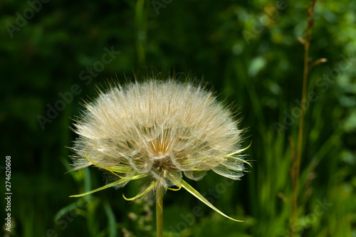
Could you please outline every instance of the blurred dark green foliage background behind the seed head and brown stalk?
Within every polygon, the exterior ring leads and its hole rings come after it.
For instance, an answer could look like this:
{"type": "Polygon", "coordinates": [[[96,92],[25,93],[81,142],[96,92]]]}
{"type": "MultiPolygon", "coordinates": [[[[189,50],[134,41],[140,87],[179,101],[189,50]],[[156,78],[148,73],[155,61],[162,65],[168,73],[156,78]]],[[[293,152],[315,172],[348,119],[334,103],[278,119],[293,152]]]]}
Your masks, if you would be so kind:
{"type": "MultiPolygon", "coordinates": [[[[165,235],[290,236],[304,53],[297,38],[308,3],[0,1],[0,183],[3,196],[10,155],[14,227],[3,236],[155,236],[155,205],[122,199],[137,194],[135,184],[68,198],[105,181],[95,168],[66,173],[80,100],[144,66],[204,76],[243,117],[243,145],[252,140],[253,168],[241,181],[231,185],[213,172],[189,181],[245,222],[214,213],[187,191],[167,191],[165,235]]],[[[356,236],[355,12],[356,1],[315,6],[310,58],[328,62],[309,75],[316,97],[305,115],[297,236],[356,236]]],[[[3,221],[5,206],[1,199],[3,221]]]]}

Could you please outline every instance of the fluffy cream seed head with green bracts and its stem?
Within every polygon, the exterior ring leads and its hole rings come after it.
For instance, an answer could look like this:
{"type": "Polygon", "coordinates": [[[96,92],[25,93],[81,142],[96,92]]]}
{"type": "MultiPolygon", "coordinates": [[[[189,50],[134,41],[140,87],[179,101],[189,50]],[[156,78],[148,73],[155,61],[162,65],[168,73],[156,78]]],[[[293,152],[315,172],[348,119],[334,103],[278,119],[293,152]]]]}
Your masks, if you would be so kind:
{"type": "Polygon", "coordinates": [[[144,179],[137,196],[123,197],[132,201],[156,194],[157,236],[162,236],[162,196],[167,189],[186,189],[226,216],[184,181],[183,174],[197,181],[212,170],[240,179],[247,163],[241,155],[243,130],[232,112],[213,92],[190,82],[190,76],[185,82],[178,79],[157,75],[142,83],[110,85],[97,99],[85,102],[74,129],[74,169],[93,165],[112,174],[105,186],[74,196],[144,179]]]}

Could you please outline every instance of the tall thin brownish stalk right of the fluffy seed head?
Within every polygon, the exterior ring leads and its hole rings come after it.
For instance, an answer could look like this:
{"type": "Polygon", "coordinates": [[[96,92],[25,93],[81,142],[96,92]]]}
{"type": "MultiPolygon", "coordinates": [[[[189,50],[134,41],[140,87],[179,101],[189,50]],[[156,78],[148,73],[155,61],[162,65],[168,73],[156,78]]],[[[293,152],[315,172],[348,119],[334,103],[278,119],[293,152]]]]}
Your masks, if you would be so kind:
{"type": "Polygon", "coordinates": [[[299,179],[300,179],[300,160],[302,158],[302,148],[303,148],[303,128],[304,128],[304,117],[305,117],[305,102],[307,94],[308,85],[308,72],[309,72],[309,48],[311,41],[311,33],[313,28],[313,11],[316,0],[311,1],[311,6],[307,8],[308,13],[308,30],[305,36],[304,45],[304,70],[303,70],[303,90],[302,90],[302,105],[300,107],[300,119],[299,119],[299,130],[298,130],[298,148],[297,157],[295,159],[295,172],[293,172],[293,201],[292,201],[292,228],[291,236],[294,236],[293,226],[297,222],[297,207],[298,207],[298,191],[299,191],[299,179]]]}

